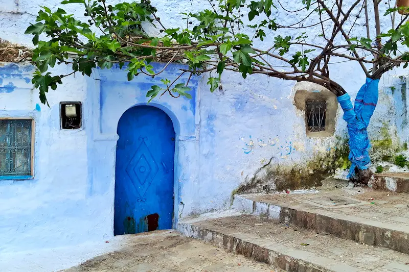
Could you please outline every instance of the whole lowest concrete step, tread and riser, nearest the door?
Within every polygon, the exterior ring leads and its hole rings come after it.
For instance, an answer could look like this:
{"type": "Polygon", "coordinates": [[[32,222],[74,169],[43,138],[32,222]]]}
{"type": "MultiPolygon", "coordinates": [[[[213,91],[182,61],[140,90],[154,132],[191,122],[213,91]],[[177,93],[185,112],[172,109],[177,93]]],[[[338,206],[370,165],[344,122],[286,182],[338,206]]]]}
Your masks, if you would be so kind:
{"type": "Polygon", "coordinates": [[[199,217],[180,222],[178,230],[288,272],[409,271],[408,255],[254,215],[199,217]]]}

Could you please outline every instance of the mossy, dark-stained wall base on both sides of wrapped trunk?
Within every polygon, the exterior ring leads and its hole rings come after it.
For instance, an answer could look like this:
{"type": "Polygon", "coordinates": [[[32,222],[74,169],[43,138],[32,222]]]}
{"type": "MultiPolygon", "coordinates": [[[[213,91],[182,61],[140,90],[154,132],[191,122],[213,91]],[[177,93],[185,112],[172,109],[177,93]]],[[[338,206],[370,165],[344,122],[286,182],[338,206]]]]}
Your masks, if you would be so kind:
{"type": "MultiPolygon", "coordinates": [[[[395,135],[396,136],[396,135],[395,135]]],[[[372,161],[393,162],[397,153],[403,149],[394,143],[387,122],[382,124],[378,139],[372,140],[370,152],[372,161]]],[[[349,169],[348,139],[336,137],[334,147],[327,152],[316,153],[304,163],[277,163],[274,157],[260,167],[253,177],[233,190],[232,196],[242,193],[272,193],[286,189],[310,189],[321,186],[321,182],[332,177],[335,170],[349,169]]]]}

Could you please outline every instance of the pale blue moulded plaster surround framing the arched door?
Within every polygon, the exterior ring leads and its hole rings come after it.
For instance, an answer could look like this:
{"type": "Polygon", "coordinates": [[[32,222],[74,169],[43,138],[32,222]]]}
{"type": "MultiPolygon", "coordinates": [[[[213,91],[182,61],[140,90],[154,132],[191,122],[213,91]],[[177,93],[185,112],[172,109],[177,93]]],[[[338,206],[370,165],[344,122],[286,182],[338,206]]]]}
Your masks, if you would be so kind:
{"type": "MultiPolygon", "coordinates": [[[[155,63],[159,70],[163,64],[155,63]]],[[[167,78],[173,81],[179,74],[180,65],[168,67],[166,72],[154,79],[140,75],[134,80],[127,80],[127,71],[119,67],[95,70],[88,82],[88,103],[92,119],[92,136],[88,138],[88,193],[103,194],[111,207],[109,220],[113,235],[113,205],[115,199],[115,165],[116,145],[118,140],[117,127],[122,114],[129,108],[139,105],[149,105],[160,108],[172,119],[176,133],[174,158],[174,216],[173,228],[183,212],[183,187],[189,186],[198,179],[198,79],[191,78],[189,86],[193,98],[173,98],[165,93],[148,104],[147,91],[152,85],[161,86],[160,81],[167,78]],[[179,206],[181,207],[179,210],[179,206]]],[[[181,77],[180,82],[187,82],[188,77],[181,77]]]]}

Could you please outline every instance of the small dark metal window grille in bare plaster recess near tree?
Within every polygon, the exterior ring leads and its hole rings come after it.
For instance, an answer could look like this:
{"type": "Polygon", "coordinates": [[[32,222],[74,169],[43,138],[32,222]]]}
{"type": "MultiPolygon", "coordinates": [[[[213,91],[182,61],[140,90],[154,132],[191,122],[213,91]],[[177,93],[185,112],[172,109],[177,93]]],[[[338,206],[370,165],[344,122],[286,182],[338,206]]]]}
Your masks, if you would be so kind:
{"type": "Polygon", "coordinates": [[[310,132],[325,131],[327,102],[307,100],[305,102],[307,129],[310,132]]]}

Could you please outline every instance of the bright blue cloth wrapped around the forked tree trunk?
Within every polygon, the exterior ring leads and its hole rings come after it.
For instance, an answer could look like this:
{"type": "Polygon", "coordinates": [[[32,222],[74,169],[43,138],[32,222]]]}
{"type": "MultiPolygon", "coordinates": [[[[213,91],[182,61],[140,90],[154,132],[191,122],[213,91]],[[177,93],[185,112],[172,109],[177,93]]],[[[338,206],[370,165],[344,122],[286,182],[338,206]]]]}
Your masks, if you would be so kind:
{"type": "Polygon", "coordinates": [[[355,107],[352,107],[348,93],[338,96],[338,102],[344,110],[344,120],[348,123],[349,160],[351,168],[349,178],[355,175],[355,167],[367,169],[371,163],[369,149],[371,144],[368,138],[367,127],[378,103],[379,80],[367,79],[359,89],[355,98],[355,107]]]}

